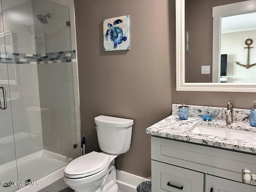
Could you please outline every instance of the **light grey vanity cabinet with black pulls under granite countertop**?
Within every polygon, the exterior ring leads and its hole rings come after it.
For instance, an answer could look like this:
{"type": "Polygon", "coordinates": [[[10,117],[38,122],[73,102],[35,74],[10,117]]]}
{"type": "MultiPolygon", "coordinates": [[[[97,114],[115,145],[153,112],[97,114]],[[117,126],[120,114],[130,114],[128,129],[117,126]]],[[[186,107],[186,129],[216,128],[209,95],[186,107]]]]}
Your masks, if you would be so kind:
{"type": "Polygon", "coordinates": [[[151,137],[152,192],[256,192],[242,183],[256,173],[256,155],[151,137]]]}

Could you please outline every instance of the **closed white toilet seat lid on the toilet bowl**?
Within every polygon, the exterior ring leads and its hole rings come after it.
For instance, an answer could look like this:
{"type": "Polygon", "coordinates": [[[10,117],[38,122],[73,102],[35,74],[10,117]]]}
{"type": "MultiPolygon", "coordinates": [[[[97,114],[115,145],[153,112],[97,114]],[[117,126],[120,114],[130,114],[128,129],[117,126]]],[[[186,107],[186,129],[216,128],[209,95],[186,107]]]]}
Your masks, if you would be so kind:
{"type": "Polygon", "coordinates": [[[104,153],[90,152],[70,162],[64,169],[68,178],[83,178],[96,174],[110,164],[110,156],[104,153]]]}

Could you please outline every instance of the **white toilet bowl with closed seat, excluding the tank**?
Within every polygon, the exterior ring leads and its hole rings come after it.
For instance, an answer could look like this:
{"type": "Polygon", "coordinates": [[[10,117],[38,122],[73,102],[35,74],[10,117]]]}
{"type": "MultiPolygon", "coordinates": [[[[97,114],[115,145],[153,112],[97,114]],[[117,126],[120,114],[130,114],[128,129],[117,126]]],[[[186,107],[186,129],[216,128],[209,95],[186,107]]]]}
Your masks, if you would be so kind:
{"type": "MultiPolygon", "coordinates": [[[[80,156],[66,166],[64,181],[76,192],[101,192],[103,191],[102,189],[107,192],[109,190],[104,184],[107,182],[106,177],[116,171],[113,164],[116,157],[98,152],[80,156]]],[[[113,179],[116,182],[116,178],[113,179]]]]}

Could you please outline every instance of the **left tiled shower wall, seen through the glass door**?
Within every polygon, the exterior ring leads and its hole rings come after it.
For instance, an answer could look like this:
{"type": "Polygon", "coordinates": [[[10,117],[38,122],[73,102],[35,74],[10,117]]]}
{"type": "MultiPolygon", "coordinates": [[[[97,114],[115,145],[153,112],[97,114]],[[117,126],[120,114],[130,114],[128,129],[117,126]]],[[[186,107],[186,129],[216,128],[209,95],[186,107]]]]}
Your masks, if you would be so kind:
{"type": "MultiPolygon", "coordinates": [[[[13,55],[14,52],[23,53],[24,55],[29,54],[30,56],[36,53],[32,1],[2,0],[2,8],[4,31],[7,33],[5,34],[5,43],[6,52],[8,52],[7,66],[10,80],[12,113],[10,111],[9,100],[7,103],[8,108],[5,111],[6,116],[1,115],[0,117],[0,132],[1,138],[9,136],[8,139],[13,143],[13,120],[16,157],[20,158],[42,149],[41,114],[37,110],[40,107],[37,65],[35,61],[29,64],[17,64],[16,62],[14,64],[16,58],[13,55]]],[[[0,22],[2,25],[2,18],[0,22]]],[[[4,42],[1,42],[0,52],[1,58],[6,60],[4,42]]],[[[3,71],[6,63],[2,63],[0,72],[6,75],[7,80],[7,71],[3,71]]],[[[4,82],[1,82],[1,85],[5,86],[8,90],[7,84],[4,85],[4,82]]],[[[12,148],[13,146],[5,145],[6,147],[0,148],[0,154],[6,154],[6,152],[12,151],[8,150],[8,148],[12,148]]],[[[14,155],[5,155],[4,159],[0,157],[0,164],[14,159],[14,155]]]]}

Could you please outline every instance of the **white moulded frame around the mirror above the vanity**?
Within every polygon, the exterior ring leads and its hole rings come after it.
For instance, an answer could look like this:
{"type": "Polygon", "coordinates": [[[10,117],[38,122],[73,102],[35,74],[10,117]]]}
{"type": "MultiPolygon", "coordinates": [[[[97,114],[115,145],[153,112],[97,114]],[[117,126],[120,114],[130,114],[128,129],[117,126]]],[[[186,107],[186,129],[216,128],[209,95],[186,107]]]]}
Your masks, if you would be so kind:
{"type": "Polygon", "coordinates": [[[256,83],[185,82],[185,0],[176,0],[176,90],[212,92],[256,92],[256,83]]]}

